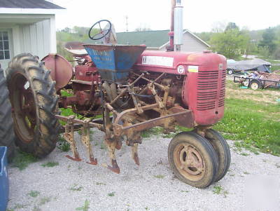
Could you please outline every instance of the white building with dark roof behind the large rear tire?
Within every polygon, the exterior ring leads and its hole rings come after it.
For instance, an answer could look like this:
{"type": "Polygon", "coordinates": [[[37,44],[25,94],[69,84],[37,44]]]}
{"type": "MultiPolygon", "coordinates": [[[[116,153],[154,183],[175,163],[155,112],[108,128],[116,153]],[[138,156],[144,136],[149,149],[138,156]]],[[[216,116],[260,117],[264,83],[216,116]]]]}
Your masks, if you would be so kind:
{"type": "Polygon", "coordinates": [[[56,53],[55,13],[64,9],[44,0],[0,0],[0,64],[19,53],[56,53]]]}

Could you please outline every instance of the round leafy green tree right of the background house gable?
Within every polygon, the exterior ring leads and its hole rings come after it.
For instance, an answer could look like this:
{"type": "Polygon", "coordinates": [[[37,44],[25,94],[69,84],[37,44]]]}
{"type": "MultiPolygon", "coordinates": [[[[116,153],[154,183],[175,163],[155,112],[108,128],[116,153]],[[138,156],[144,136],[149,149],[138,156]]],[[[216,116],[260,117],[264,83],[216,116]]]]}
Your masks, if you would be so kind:
{"type": "Polygon", "coordinates": [[[211,49],[221,53],[230,59],[237,59],[244,53],[250,41],[247,34],[242,34],[239,29],[228,29],[225,32],[216,33],[210,39],[211,49]]]}

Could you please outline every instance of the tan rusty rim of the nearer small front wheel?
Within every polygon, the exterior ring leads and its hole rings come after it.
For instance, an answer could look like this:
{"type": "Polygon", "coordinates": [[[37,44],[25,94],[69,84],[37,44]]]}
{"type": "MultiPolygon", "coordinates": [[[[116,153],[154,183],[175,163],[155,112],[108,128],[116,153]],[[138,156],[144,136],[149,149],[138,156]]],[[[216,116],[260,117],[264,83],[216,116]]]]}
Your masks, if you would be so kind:
{"type": "Polygon", "coordinates": [[[198,181],[204,177],[204,159],[190,144],[181,143],[175,147],[174,164],[186,179],[198,181]]]}

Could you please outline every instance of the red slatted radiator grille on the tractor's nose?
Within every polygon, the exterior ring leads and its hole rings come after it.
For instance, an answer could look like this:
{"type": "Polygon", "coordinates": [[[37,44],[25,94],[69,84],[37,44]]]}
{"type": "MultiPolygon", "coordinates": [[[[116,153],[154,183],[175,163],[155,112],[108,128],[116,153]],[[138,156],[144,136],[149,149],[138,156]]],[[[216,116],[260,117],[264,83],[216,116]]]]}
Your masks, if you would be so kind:
{"type": "Polygon", "coordinates": [[[220,73],[221,81],[219,79],[219,71],[204,71],[199,72],[197,76],[197,110],[205,111],[214,109],[216,106],[223,107],[225,104],[225,70],[220,73]],[[218,92],[218,86],[221,91],[218,92]],[[217,102],[218,101],[218,102],[217,102]]]}

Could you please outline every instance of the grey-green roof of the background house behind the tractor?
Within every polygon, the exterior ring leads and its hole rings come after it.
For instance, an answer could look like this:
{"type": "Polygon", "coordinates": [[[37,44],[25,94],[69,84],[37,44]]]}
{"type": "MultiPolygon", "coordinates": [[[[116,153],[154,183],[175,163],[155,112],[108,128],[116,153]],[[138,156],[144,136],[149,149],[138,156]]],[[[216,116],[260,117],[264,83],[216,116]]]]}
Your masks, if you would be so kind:
{"type": "MultiPolygon", "coordinates": [[[[117,39],[119,44],[123,45],[141,45],[145,44],[150,48],[162,48],[169,43],[169,30],[158,30],[158,31],[144,31],[144,32],[119,32],[117,33],[117,39]]],[[[208,43],[204,42],[198,36],[192,32],[185,30],[183,32],[189,33],[195,37],[198,41],[204,43],[207,47],[210,47],[208,43]]]]}

